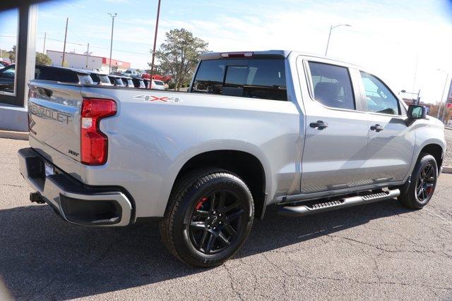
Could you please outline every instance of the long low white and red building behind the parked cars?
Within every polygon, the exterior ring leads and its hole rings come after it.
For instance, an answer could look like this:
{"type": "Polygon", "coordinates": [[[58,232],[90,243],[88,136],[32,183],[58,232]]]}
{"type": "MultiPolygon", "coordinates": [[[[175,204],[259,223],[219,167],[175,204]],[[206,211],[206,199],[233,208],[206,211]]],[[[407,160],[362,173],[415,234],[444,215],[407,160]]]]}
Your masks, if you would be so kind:
{"type": "MultiPolygon", "coordinates": [[[[63,52],[47,50],[47,56],[52,60],[52,66],[61,66],[63,62],[63,52]]],[[[110,59],[103,56],[91,56],[89,54],[76,54],[66,52],[64,54],[65,66],[69,68],[100,70],[108,73],[110,59]]],[[[124,72],[130,68],[130,63],[112,59],[112,71],[124,72]]]]}

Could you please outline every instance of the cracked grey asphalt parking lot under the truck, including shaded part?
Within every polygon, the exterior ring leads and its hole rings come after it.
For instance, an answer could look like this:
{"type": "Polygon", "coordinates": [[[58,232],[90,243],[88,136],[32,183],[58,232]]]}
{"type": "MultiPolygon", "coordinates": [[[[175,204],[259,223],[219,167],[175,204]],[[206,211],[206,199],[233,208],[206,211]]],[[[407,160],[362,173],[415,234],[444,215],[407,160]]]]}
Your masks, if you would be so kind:
{"type": "Polygon", "coordinates": [[[269,208],[234,259],[194,269],[155,223],[83,228],[31,204],[16,156],[27,146],[0,139],[0,299],[452,298],[452,175],[420,211],[391,200],[290,219],[269,208]]]}

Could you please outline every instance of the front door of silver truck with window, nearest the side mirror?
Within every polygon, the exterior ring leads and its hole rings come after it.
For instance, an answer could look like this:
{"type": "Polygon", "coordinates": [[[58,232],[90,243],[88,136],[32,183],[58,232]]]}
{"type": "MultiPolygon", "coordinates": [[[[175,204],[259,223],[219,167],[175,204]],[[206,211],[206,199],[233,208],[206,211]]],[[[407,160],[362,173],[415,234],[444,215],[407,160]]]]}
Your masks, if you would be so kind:
{"type": "Polygon", "coordinates": [[[376,76],[360,71],[359,78],[363,106],[369,118],[366,177],[374,183],[403,180],[415,145],[415,132],[405,123],[405,108],[376,76]]]}

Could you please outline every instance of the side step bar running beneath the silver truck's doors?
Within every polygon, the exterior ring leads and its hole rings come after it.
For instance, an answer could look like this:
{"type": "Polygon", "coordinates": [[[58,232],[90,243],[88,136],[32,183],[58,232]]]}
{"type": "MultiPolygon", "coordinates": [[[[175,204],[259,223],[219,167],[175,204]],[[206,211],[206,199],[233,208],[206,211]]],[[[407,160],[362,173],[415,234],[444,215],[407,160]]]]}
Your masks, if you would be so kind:
{"type": "Polygon", "coordinates": [[[346,207],[357,206],[360,204],[369,204],[372,202],[382,201],[383,199],[393,199],[400,195],[400,190],[387,190],[377,192],[371,195],[357,195],[355,197],[344,197],[331,202],[323,202],[301,206],[284,206],[280,207],[278,213],[283,216],[305,216],[320,212],[341,209],[346,207]]]}

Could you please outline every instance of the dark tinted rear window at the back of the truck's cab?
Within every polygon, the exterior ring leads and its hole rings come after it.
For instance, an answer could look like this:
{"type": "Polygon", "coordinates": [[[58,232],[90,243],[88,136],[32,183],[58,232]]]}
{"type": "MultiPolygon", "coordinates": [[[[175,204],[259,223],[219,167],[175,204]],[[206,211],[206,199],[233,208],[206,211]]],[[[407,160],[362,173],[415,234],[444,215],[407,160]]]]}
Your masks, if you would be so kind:
{"type": "Polygon", "coordinates": [[[201,61],[192,92],[287,100],[284,59],[201,61]]]}

